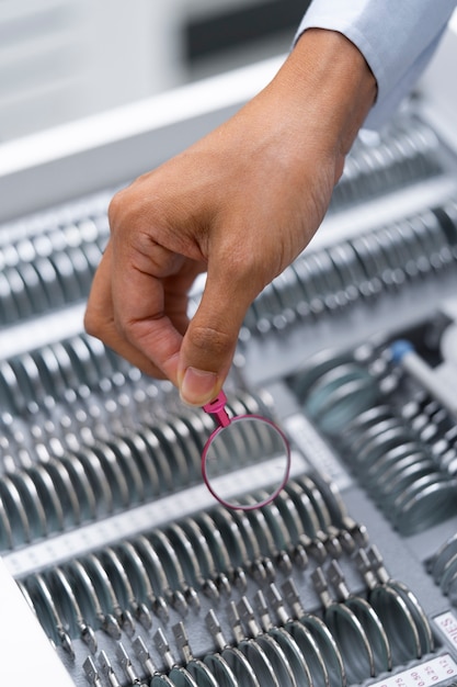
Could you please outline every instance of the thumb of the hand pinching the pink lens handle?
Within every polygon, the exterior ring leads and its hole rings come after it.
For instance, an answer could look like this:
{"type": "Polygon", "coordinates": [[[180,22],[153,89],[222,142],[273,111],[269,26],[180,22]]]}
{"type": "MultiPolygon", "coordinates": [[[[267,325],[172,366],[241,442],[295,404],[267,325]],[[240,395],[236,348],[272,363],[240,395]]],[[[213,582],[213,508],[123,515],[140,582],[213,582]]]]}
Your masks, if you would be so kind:
{"type": "Polygon", "coordinates": [[[238,279],[208,274],[199,306],[184,336],[178,383],[185,403],[202,406],[219,393],[255,290],[238,279]]]}

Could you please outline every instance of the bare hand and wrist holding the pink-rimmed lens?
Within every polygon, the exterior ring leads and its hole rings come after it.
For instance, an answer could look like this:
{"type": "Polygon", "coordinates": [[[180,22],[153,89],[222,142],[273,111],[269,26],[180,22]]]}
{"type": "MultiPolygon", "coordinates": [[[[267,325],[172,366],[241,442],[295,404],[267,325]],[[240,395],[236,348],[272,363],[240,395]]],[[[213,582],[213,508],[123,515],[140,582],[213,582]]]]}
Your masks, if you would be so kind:
{"type": "Polygon", "coordinates": [[[213,399],[247,309],[318,229],[375,98],[350,41],[306,31],[233,117],[113,198],[88,333],[171,380],[184,402],[213,399]],[[201,272],[206,285],[188,322],[201,272]]]}

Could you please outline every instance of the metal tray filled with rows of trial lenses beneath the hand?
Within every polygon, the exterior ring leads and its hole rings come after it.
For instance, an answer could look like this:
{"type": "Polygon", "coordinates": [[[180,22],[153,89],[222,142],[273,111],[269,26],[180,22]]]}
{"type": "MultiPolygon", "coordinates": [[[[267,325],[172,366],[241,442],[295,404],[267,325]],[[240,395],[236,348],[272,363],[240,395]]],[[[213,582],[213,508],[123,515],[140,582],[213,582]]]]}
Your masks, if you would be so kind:
{"type": "Polygon", "coordinates": [[[457,375],[456,169],[413,109],[357,139],[250,308],[229,410],[294,454],[251,511],[202,485],[210,418],[82,331],[111,191],[0,228],[0,553],[75,685],[456,685],[457,426],[391,352],[457,375]]]}

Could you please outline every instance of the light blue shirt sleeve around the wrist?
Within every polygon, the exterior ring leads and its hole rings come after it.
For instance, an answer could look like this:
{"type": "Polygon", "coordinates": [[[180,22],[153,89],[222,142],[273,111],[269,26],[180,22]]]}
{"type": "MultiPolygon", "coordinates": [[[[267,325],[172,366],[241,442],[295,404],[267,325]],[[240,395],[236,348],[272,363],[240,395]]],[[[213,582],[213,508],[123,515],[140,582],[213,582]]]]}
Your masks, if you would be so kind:
{"type": "Polygon", "coordinates": [[[358,47],[378,85],[364,126],[378,128],[430,61],[457,0],[312,0],[297,32],[330,29],[358,47]]]}

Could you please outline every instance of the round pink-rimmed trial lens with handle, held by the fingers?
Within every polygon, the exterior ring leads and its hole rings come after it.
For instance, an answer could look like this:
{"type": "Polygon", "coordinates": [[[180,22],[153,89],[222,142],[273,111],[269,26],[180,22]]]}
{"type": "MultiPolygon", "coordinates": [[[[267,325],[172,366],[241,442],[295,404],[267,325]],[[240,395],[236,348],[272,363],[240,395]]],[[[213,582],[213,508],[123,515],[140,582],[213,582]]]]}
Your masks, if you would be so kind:
{"type": "Polygon", "coordinates": [[[226,403],[221,391],[203,406],[217,421],[202,453],[203,480],[222,506],[253,510],[270,504],[286,485],[290,472],[289,442],[266,417],[229,417],[226,403]]]}

